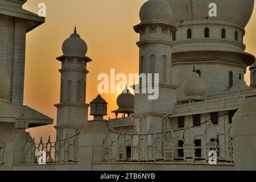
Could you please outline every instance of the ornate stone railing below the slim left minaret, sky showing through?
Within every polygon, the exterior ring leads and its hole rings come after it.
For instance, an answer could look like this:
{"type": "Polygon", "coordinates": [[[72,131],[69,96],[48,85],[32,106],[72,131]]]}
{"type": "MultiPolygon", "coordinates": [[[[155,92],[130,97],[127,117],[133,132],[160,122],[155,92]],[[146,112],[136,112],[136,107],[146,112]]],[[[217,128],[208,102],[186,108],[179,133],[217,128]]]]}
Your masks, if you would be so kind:
{"type": "Polygon", "coordinates": [[[38,163],[39,156],[46,155],[46,163],[76,163],[79,156],[79,134],[68,138],[68,134],[63,140],[43,143],[42,137],[39,143],[28,141],[23,147],[23,164],[38,163]]]}

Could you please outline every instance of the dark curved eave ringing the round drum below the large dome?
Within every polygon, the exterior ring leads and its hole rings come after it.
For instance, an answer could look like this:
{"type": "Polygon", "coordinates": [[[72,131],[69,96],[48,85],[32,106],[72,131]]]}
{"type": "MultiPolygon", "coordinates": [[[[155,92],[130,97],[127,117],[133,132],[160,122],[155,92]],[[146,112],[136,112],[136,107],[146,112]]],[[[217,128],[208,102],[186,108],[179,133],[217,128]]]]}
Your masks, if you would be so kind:
{"type": "MultiPolygon", "coordinates": [[[[250,65],[252,65],[254,62],[255,62],[255,56],[250,54],[250,53],[247,53],[247,52],[242,52],[242,51],[222,51],[222,50],[191,50],[191,51],[177,51],[177,52],[172,52],[172,57],[175,57],[175,54],[185,54],[185,53],[193,53],[193,52],[209,52],[209,53],[213,53],[214,52],[214,55],[216,55],[216,57],[213,57],[213,59],[218,59],[218,55],[222,54],[222,53],[235,53],[239,56],[242,56],[242,61],[244,64],[247,65],[247,67],[249,67],[250,65]]],[[[178,62],[178,61],[174,61],[175,63],[178,62]]]]}

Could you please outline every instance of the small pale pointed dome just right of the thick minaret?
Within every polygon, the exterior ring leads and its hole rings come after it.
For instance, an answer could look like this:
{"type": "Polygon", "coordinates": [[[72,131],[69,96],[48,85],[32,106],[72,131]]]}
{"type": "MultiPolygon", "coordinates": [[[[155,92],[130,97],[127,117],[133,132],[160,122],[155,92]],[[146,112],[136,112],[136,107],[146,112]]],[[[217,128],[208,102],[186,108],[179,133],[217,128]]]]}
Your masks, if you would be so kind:
{"type": "Polygon", "coordinates": [[[205,96],[207,85],[194,69],[193,73],[183,82],[182,91],[185,96],[205,96]]]}

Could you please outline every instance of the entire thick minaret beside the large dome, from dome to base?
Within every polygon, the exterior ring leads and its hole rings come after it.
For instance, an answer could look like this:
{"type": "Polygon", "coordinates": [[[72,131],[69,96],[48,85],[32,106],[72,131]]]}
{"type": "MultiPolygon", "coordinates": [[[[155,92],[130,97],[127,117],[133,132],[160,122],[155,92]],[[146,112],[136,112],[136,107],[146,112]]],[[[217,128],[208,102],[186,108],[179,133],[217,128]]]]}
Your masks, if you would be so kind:
{"type": "MultiPolygon", "coordinates": [[[[141,7],[139,16],[141,23],[134,26],[135,32],[140,35],[139,42],[137,42],[139,73],[159,73],[158,99],[148,100],[149,94],[135,93],[134,122],[138,133],[144,135],[150,126],[154,126],[155,133],[164,131],[162,123],[165,121],[162,121],[162,118],[175,111],[178,86],[172,85],[171,78],[171,49],[174,46],[171,35],[176,28],[171,23],[171,6],[163,0],[147,1],[141,7]]],[[[141,88],[145,86],[146,84],[141,84],[141,88]]],[[[144,151],[141,150],[139,156],[143,160],[146,158],[146,144],[142,138],[140,147],[144,148],[144,151]]],[[[157,144],[156,148],[161,155],[161,143],[157,144]]]]}

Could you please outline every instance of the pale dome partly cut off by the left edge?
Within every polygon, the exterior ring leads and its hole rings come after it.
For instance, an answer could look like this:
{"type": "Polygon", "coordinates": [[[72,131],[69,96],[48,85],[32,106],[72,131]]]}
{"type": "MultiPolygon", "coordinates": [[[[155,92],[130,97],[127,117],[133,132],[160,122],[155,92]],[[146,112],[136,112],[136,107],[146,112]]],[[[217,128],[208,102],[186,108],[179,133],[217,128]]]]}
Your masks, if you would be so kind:
{"type": "Polygon", "coordinates": [[[10,77],[0,65],[0,98],[5,98],[10,88],[10,77]]]}

